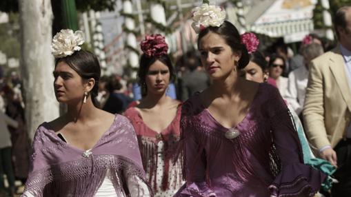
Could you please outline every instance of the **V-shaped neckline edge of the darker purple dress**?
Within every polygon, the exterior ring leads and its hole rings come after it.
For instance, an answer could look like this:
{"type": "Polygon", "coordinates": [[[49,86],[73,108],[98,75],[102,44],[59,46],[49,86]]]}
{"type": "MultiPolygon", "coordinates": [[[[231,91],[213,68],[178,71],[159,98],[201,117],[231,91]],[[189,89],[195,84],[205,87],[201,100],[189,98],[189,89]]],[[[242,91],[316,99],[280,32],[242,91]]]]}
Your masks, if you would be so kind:
{"type": "MultiPolygon", "coordinates": [[[[216,123],[216,125],[219,125],[220,127],[222,127],[225,130],[238,129],[248,119],[248,116],[250,116],[250,114],[252,114],[252,110],[254,108],[255,103],[257,103],[257,98],[259,97],[259,92],[261,91],[261,88],[262,88],[261,84],[262,83],[259,83],[259,87],[257,88],[257,91],[255,92],[254,97],[252,98],[248,113],[246,113],[245,116],[243,117],[243,119],[239,123],[237,123],[237,125],[235,125],[234,127],[223,126],[221,123],[219,123],[219,121],[217,121],[216,118],[214,118],[214,116],[212,116],[210,110],[208,110],[208,108],[205,107],[205,105],[203,105],[203,103],[201,103],[200,99],[198,98],[197,100],[199,101],[201,108],[203,108],[205,113],[208,114],[208,116],[210,116],[210,118],[214,121],[214,123],[216,123]]],[[[199,93],[196,94],[197,97],[199,97],[199,95],[200,95],[199,93]]]]}

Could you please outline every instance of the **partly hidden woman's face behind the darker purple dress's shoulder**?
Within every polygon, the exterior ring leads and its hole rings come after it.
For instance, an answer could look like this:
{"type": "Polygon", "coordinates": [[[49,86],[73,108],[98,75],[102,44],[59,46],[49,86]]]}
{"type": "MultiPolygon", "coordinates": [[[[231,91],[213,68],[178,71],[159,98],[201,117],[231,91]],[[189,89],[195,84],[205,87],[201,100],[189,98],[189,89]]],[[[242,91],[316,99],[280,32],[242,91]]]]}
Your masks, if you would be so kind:
{"type": "Polygon", "coordinates": [[[264,73],[262,68],[259,67],[257,63],[250,61],[248,65],[246,65],[246,67],[239,72],[239,75],[249,81],[263,83],[267,73],[264,73]]]}

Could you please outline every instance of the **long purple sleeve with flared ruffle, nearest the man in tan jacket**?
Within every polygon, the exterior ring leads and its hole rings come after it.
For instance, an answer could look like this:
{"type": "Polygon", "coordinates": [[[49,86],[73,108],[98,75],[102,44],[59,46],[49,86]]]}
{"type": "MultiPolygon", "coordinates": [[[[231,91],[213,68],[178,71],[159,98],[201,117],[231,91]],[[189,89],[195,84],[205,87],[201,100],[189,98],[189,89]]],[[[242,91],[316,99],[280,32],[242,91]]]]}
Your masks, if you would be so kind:
{"type": "Polygon", "coordinates": [[[274,145],[281,160],[281,172],[269,186],[272,196],[313,196],[323,183],[325,174],[303,164],[299,136],[278,90],[272,86],[267,107],[273,132],[274,145]]]}

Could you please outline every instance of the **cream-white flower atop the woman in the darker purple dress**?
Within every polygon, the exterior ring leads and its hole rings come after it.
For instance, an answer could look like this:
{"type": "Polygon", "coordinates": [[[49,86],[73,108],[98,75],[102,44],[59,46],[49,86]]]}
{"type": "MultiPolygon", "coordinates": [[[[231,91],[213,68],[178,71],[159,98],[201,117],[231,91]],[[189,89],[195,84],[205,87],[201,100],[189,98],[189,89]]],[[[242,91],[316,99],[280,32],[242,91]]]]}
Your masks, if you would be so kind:
{"type": "Polygon", "coordinates": [[[192,28],[197,34],[201,30],[211,27],[219,27],[226,17],[225,10],[219,6],[210,6],[203,3],[201,6],[192,9],[192,28]]]}

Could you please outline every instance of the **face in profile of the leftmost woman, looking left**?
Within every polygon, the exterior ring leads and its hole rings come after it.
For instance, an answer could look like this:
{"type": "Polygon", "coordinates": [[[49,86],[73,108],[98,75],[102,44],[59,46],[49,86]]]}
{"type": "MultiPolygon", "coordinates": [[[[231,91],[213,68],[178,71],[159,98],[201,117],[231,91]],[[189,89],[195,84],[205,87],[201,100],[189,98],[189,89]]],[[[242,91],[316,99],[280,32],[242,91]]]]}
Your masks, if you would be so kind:
{"type": "Polygon", "coordinates": [[[61,61],[54,70],[54,91],[60,103],[79,103],[83,100],[85,85],[79,74],[61,61]]]}

